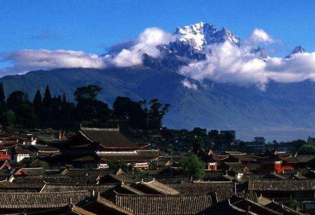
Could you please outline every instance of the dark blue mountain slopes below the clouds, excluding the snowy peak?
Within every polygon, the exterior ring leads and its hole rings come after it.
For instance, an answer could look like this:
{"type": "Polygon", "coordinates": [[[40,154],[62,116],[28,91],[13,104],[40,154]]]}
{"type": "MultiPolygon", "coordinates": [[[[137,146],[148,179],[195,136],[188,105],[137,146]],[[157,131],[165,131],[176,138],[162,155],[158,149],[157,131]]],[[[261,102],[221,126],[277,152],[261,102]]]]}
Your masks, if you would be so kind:
{"type": "Polygon", "coordinates": [[[262,135],[268,140],[289,140],[315,135],[315,85],[313,82],[281,84],[270,82],[266,91],[254,86],[203,83],[189,80],[197,90],[184,87],[184,76],[148,67],[110,70],[57,69],[5,76],[8,95],[14,90],[28,92],[32,99],[36,90],[46,85],[52,95],[66,93],[73,100],[78,86],[95,84],[103,89],[100,100],[110,105],[116,96],[133,100],[158,98],[171,104],[165,125],[172,128],[205,127],[236,129],[238,138],[251,140],[262,135]]]}

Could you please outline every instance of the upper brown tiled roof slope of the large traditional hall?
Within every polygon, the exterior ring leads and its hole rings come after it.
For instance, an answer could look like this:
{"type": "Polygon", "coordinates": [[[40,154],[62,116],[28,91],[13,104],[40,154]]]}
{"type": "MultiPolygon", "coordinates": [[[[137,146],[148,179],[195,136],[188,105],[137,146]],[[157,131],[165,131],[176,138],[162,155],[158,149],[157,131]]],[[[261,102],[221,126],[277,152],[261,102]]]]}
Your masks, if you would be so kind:
{"type": "Polygon", "coordinates": [[[104,148],[140,148],[138,144],[133,143],[120,133],[119,129],[81,128],[79,133],[94,143],[99,143],[104,148]]]}

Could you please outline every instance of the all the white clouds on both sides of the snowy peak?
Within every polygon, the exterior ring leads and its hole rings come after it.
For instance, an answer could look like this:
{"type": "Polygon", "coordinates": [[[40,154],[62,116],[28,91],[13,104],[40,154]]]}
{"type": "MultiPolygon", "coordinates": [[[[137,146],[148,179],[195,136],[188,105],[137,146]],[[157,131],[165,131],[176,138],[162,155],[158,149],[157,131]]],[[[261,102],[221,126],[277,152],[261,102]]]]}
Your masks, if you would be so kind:
{"type": "MultiPolygon", "coordinates": [[[[11,64],[0,69],[0,76],[32,70],[57,68],[128,67],[142,64],[144,53],[152,57],[161,56],[158,45],[168,44],[177,36],[157,28],[145,29],[137,38],[111,47],[109,54],[98,56],[82,51],[69,50],[21,50],[0,53],[0,62],[11,64]]],[[[215,82],[233,83],[241,86],[255,85],[264,90],[269,80],[276,82],[299,82],[306,79],[315,81],[315,52],[297,53],[290,58],[268,57],[262,59],[252,52],[258,44],[276,41],[263,29],[254,29],[240,45],[229,41],[206,45],[202,52],[206,59],[193,61],[179,73],[194,80],[210,79],[215,82]]],[[[195,84],[184,79],[183,86],[197,90],[195,84]]]]}

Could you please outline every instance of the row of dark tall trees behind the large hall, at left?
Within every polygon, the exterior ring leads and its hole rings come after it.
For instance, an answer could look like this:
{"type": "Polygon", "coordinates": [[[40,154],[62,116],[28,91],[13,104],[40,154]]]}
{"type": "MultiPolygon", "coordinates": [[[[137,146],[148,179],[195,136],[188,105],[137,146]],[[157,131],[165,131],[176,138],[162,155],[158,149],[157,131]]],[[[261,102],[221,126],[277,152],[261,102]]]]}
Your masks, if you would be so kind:
{"type": "MultiPolygon", "coordinates": [[[[0,83],[0,100],[2,89],[0,83]]],[[[152,100],[148,110],[145,100],[137,102],[117,97],[112,113],[107,103],[97,100],[100,90],[95,85],[78,87],[74,93],[77,105],[67,101],[65,94],[51,97],[49,86],[43,99],[38,89],[32,102],[28,94],[14,91],[6,102],[0,102],[0,123],[12,128],[77,129],[82,122],[106,124],[109,119],[118,118],[125,119],[131,128],[159,132],[168,104],[163,106],[158,100],[152,100]]]]}

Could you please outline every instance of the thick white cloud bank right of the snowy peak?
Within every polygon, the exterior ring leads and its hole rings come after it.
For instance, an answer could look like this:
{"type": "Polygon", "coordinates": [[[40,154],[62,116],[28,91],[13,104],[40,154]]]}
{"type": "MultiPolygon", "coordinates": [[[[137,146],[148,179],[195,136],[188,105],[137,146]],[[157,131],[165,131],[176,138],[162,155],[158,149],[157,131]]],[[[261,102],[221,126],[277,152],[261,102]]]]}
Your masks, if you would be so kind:
{"type": "Polygon", "coordinates": [[[202,81],[233,83],[241,86],[255,85],[265,90],[269,80],[276,82],[315,81],[315,52],[297,53],[290,58],[268,57],[262,59],[252,53],[252,46],[258,43],[274,43],[263,30],[255,29],[240,46],[226,41],[209,47],[206,60],[190,63],[179,73],[202,81]]]}

